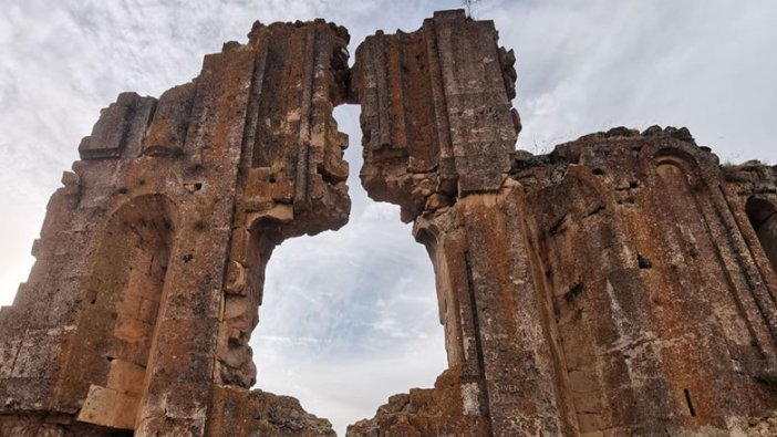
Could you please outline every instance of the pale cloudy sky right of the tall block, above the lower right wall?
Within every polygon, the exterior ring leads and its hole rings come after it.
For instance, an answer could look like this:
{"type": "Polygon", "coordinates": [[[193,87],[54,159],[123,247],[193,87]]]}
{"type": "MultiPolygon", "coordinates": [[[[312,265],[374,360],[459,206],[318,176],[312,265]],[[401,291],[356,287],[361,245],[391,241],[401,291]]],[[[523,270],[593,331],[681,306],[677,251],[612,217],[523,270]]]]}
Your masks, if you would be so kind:
{"type": "Polygon", "coordinates": [[[518,54],[519,144],[614,125],[686,125],[724,159],[777,162],[771,1],[494,1],[518,54]]]}

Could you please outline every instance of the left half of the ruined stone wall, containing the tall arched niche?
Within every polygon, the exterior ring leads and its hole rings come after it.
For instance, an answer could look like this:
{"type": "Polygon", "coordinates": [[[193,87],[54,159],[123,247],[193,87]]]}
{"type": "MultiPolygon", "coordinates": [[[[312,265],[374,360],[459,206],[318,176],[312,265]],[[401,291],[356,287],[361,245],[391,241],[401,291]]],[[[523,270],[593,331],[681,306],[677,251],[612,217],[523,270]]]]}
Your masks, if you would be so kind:
{"type": "Polygon", "coordinates": [[[204,435],[232,419],[250,422],[245,435],[332,434],[286,398],[251,398],[265,422],[214,399],[255,383],[248,337],[272,248],[348,221],[332,118],[348,39],[323,21],[257,23],[191,83],[103,111],[0,315],[2,435],[204,435]]]}

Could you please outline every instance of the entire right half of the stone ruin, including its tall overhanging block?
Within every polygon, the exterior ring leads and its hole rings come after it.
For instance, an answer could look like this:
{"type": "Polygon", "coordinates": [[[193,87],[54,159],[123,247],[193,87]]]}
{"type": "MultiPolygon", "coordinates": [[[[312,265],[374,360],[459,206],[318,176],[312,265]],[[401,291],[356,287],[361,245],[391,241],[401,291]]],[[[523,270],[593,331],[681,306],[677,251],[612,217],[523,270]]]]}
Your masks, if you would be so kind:
{"type": "Polygon", "coordinates": [[[777,433],[775,168],[657,126],[516,152],[514,62],[453,11],[356,50],[362,183],[428,249],[450,371],[349,436],[777,433]]]}

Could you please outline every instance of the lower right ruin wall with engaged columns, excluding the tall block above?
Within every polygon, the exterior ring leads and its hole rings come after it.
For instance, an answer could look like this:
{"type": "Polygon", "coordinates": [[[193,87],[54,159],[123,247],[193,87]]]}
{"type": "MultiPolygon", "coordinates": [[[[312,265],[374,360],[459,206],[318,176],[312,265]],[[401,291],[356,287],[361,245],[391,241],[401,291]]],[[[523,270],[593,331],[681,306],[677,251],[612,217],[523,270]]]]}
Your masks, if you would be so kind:
{"type": "Polygon", "coordinates": [[[775,434],[776,175],[721,167],[687,129],[617,128],[422,212],[448,361],[490,425],[475,435],[775,434]]]}

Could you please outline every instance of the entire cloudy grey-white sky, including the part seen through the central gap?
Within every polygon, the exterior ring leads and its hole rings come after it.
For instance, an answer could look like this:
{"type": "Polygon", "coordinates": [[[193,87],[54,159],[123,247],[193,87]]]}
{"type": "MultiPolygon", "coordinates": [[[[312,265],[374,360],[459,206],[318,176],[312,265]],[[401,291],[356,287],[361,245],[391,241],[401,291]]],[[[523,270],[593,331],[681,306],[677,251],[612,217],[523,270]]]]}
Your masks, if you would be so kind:
{"type": "MultiPolygon", "coordinates": [[[[12,302],[51,194],[100,108],[123,91],[158,96],[201,59],[246,41],[255,20],[325,18],[351,53],[377,29],[414,31],[449,1],[0,0],[0,304],[12,302]]],[[[722,162],[777,164],[777,2],[770,0],[481,0],[517,54],[517,147],[614,126],[687,126],[722,162]]],[[[351,136],[353,210],[338,232],[276,249],[251,344],[257,387],[293,395],[339,434],[446,366],[432,264],[398,209],[367,199],[359,108],[351,136]]]]}

